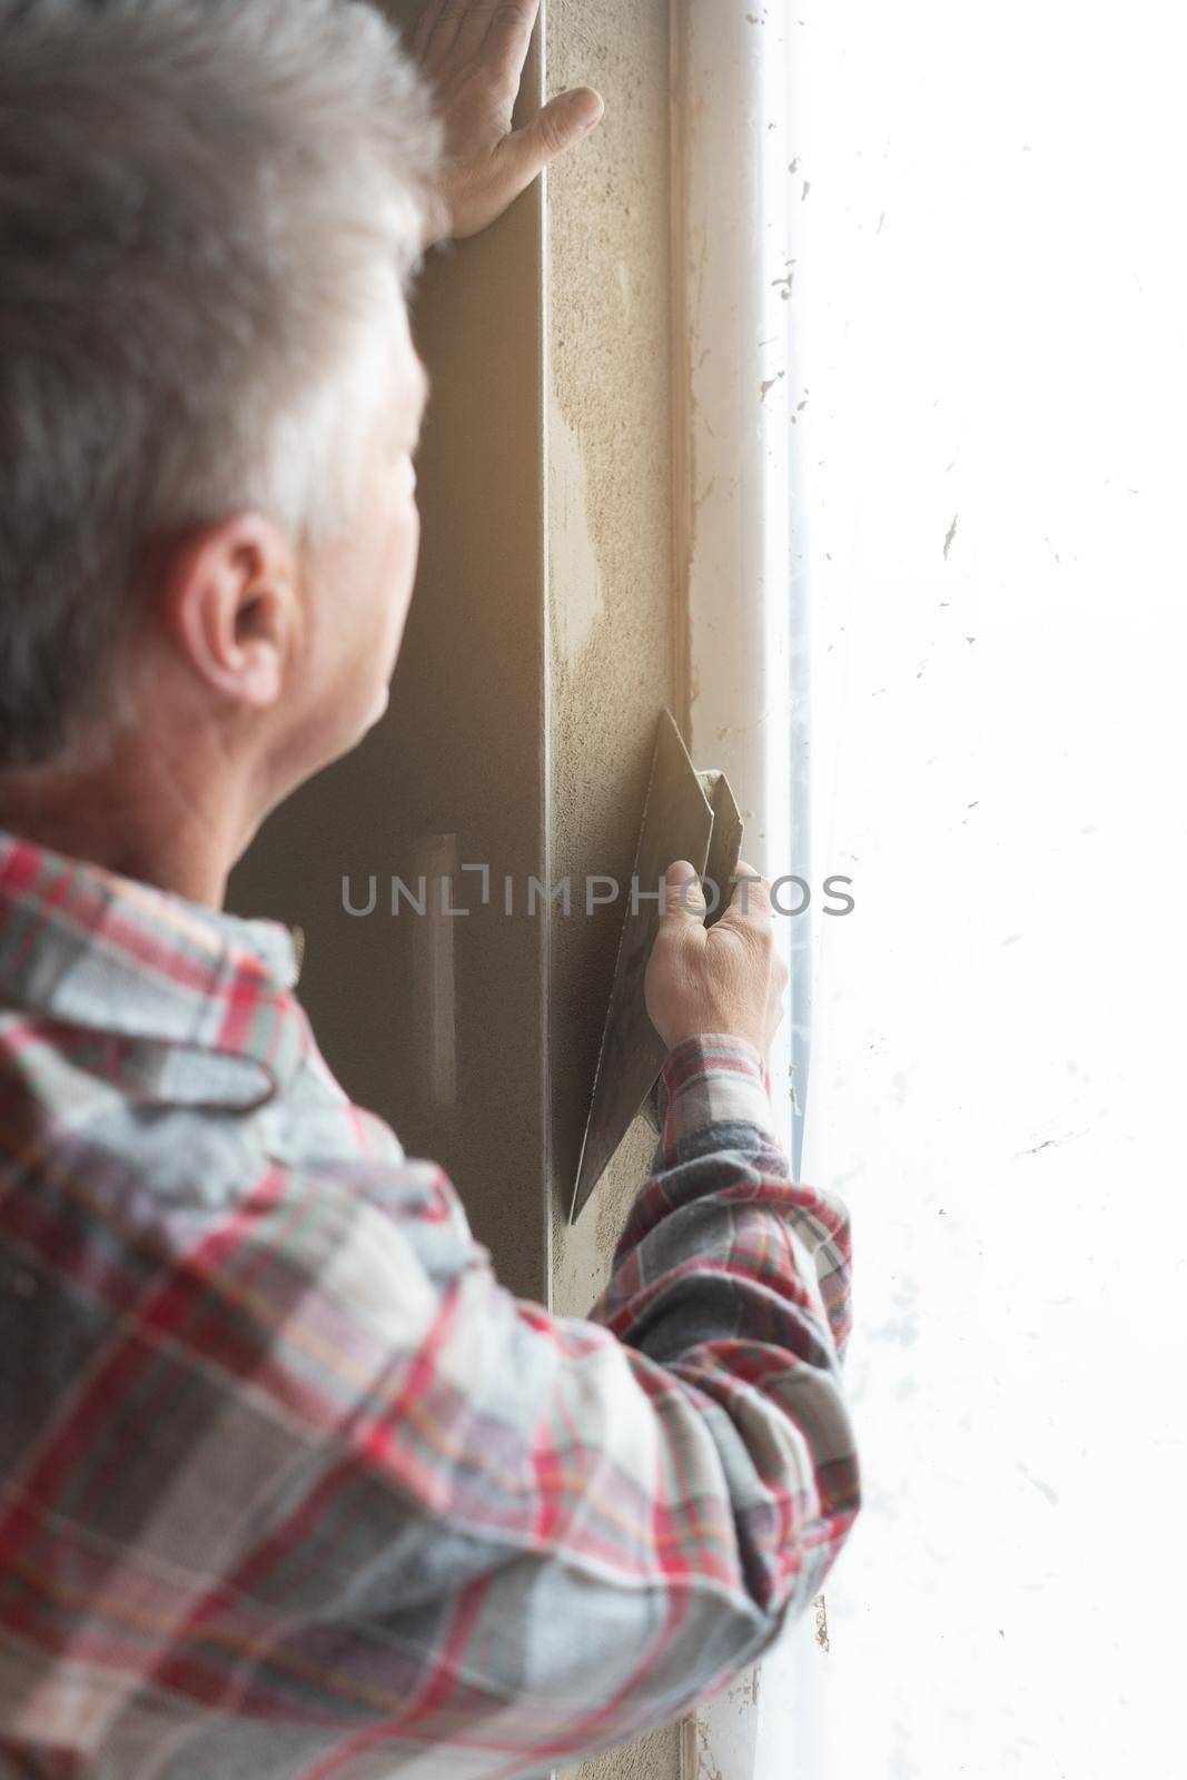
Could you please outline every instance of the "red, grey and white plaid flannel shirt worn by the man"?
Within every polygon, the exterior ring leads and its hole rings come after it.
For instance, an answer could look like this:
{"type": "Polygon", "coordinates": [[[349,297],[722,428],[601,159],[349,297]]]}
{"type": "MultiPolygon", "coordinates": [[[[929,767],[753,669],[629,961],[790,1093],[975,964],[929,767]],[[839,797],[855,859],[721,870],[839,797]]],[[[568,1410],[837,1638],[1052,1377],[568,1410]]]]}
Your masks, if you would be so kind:
{"type": "Polygon", "coordinates": [[[847,1212],[751,1045],[671,1054],[582,1321],[294,981],[274,922],[0,837],[5,1780],[545,1773],[717,1691],[858,1513],[847,1212]]]}

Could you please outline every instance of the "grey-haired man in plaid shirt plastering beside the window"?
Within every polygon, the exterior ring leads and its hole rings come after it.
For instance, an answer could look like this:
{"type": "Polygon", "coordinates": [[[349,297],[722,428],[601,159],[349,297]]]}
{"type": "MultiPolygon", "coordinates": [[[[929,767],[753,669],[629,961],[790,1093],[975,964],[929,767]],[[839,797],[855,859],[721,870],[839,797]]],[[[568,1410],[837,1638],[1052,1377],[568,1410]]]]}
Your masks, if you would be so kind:
{"type": "Polygon", "coordinates": [[[534,0],[411,57],[335,0],[0,5],[0,1775],[546,1771],[762,1652],[860,1506],[767,888],[707,929],[669,872],[589,1321],[500,1287],[222,897],[384,708],[420,253],[602,105],[511,132],[534,0]]]}

